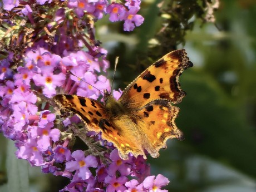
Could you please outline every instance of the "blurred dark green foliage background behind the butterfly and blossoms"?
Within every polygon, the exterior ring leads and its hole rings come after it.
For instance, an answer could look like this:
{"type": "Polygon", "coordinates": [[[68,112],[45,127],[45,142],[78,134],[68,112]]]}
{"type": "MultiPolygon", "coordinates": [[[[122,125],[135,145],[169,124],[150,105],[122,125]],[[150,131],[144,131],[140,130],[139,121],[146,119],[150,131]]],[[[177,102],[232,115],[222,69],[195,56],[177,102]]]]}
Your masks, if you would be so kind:
{"type": "MultiPolygon", "coordinates": [[[[191,8],[193,3],[207,1],[166,2],[171,6],[183,3],[185,9],[175,10],[185,10],[186,18],[178,15],[181,30],[170,30],[165,36],[156,34],[170,15],[159,11],[162,4],[157,0],[142,2],[139,13],[145,21],[134,32],[122,32],[122,23],[106,26],[107,18],[96,23],[97,37],[109,51],[111,67],[120,56],[115,88],[123,90],[153,61],[176,48],[184,47],[194,63],[180,77],[187,96],[176,105],[180,107],[176,124],[186,139],[169,140],[159,158],[149,157],[152,174],[168,177],[166,189],[175,192],[256,191],[256,1],[221,0],[214,23],[205,22],[203,13],[191,8]]],[[[4,154],[12,147],[4,147],[7,141],[3,137],[0,142],[0,179],[4,182],[4,154]]],[[[31,191],[63,188],[61,178],[42,174],[37,168],[29,168],[29,175],[31,191]]]]}

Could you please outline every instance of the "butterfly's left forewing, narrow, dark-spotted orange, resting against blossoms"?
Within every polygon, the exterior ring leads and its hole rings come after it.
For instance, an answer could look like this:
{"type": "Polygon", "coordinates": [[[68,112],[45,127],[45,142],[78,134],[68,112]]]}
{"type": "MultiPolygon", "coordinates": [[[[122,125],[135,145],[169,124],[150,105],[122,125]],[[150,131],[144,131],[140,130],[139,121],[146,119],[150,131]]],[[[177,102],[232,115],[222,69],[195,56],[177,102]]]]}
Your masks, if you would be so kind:
{"type": "Polygon", "coordinates": [[[106,118],[106,107],[99,101],[77,95],[56,95],[53,99],[62,110],[79,115],[88,130],[101,131],[99,122],[106,118]]]}

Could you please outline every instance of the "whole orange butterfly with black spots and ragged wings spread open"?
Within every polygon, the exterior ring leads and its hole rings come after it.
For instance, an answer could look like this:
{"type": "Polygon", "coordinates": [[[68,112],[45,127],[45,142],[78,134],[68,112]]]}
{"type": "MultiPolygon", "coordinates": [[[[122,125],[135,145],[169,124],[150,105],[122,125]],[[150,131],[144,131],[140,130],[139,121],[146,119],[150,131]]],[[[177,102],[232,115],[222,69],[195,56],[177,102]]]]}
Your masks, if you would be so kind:
{"type": "Polygon", "coordinates": [[[175,125],[178,104],[186,93],[181,90],[179,76],[193,63],[184,49],[168,53],[153,63],[128,85],[116,100],[104,91],[104,103],[77,95],[53,97],[60,109],[81,117],[88,131],[102,132],[102,139],[112,142],[119,156],[137,157],[147,151],[152,157],[166,147],[166,140],[184,140],[175,125]]]}

